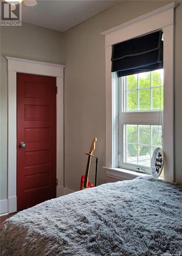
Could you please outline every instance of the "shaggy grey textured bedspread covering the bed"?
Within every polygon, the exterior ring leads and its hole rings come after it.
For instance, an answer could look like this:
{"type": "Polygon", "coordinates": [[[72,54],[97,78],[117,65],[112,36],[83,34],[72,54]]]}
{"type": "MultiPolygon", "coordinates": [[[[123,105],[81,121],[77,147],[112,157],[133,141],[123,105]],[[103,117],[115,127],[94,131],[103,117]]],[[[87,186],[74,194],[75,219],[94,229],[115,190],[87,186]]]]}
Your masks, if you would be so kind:
{"type": "Polygon", "coordinates": [[[5,221],[1,255],[181,255],[181,203],[181,186],[146,177],[78,191],[5,221]]]}

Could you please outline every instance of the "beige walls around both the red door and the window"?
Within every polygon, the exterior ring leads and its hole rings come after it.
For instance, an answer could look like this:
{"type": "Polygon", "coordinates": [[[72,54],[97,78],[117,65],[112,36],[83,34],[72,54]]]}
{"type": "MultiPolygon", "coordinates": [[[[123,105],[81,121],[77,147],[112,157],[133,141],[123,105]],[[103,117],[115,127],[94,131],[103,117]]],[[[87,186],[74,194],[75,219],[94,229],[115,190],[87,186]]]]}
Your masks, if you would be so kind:
{"type": "MultiPolygon", "coordinates": [[[[1,27],[1,155],[0,200],[7,198],[7,61],[4,56],[65,64],[65,186],[80,187],[88,152],[97,137],[98,183],[115,181],[105,176],[105,38],[100,32],[158,9],[172,1],[123,1],[63,33],[30,24],[1,27]],[[63,51],[64,47],[64,51],[63,51]]],[[[179,1],[178,1],[179,2],[179,1]]],[[[175,164],[182,183],[181,61],[182,4],[176,9],[175,34],[175,164]]],[[[90,179],[94,182],[94,162],[90,179]]]]}

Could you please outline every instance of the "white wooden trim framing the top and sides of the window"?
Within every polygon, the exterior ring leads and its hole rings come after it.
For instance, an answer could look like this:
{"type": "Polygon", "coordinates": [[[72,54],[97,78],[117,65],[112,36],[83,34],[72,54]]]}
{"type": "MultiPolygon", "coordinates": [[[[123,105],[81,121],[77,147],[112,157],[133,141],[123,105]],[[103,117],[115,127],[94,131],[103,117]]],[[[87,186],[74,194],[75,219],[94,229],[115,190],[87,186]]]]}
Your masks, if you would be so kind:
{"type": "MultiPolygon", "coordinates": [[[[106,48],[106,166],[118,167],[118,122],[116,121],[115,103],[117,92],[115,78],[111,73],[112,45],[134,37],[138,37],[159,29],[164,33],[164,179],[174,181],[174,11],[177,3],[171,3],[162,8],[144,14],[120,26],[102,32],[105,35],[106,48]],[[165,57],[167,56],[167,57],[165,57]]],[[[113,173],[115,170],[112,170],[113,173]]],[[[117,170],[118,172],[118,170],[117,170]]],[[[115,173],[121,179],[121,175],[115,173]]],[[[135,178],[135,176],[133,176],[135,178]]],[[[128,177],[131,178],[131,175],[128,177]]]]}

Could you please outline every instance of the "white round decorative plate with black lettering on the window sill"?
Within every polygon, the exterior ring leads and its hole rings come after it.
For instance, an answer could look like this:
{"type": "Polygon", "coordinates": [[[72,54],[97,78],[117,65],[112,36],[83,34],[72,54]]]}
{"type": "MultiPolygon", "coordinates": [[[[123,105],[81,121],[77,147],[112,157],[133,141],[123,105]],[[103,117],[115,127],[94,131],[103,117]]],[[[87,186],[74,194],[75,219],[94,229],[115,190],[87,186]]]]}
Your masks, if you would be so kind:
{"type": "Polygon", "coordinates": [[[158,178],[163,170],[164,165],[164,152],[162,148],[157,147],[155,148],[151,162],[150,162],[150,168],[151,168],[151,175],[153,178],[158,178]]]}

